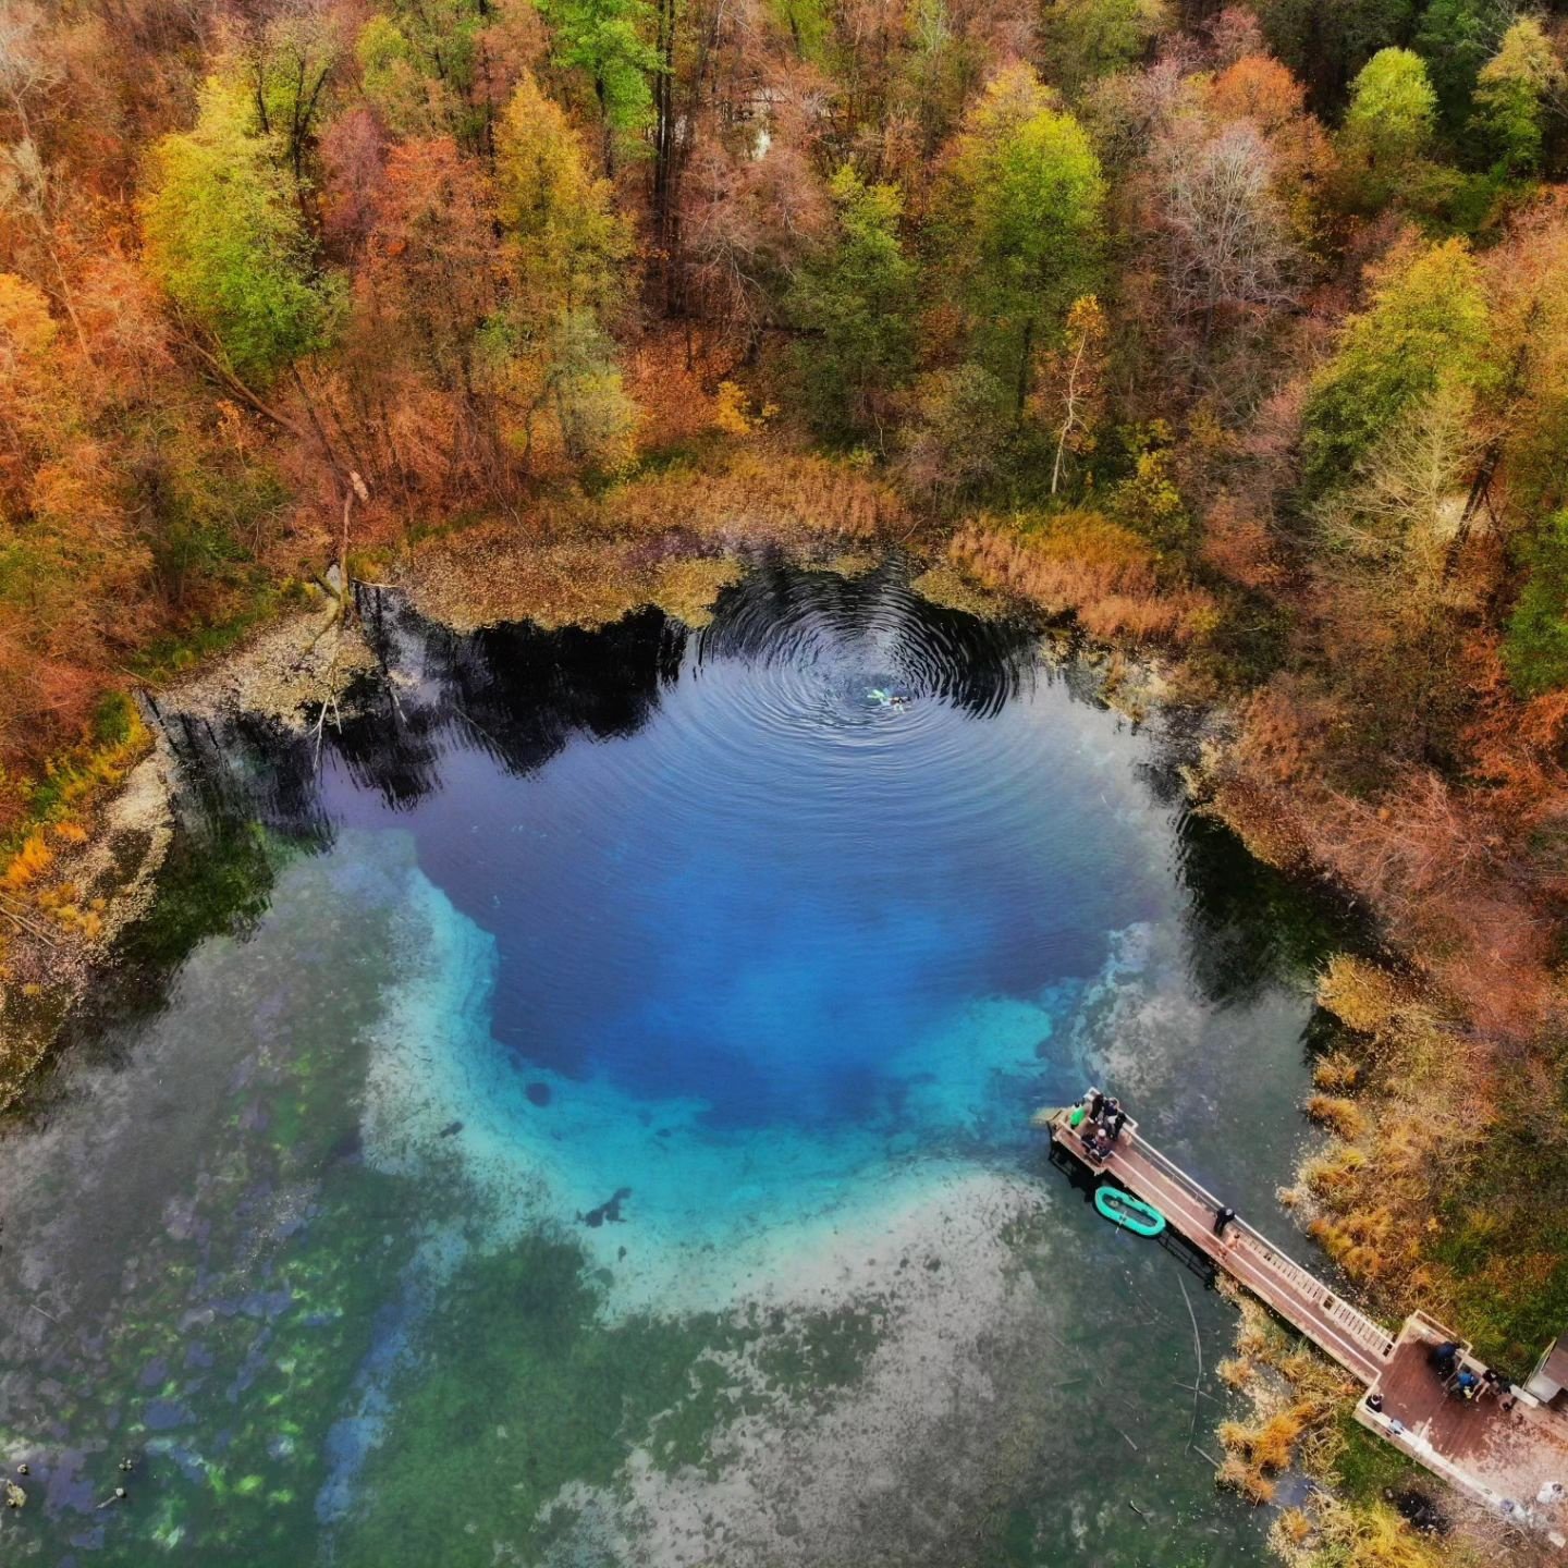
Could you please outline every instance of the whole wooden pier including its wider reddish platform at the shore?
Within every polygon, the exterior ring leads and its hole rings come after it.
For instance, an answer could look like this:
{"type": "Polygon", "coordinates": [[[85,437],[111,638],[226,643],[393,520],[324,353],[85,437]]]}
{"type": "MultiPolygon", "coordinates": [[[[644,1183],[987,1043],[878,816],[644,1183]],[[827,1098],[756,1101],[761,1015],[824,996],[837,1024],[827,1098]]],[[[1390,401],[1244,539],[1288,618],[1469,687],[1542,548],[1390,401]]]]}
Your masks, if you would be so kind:
{"type": "Polygon", "coordinates": [[[1138,1137],[1135,1121],[1096,1159],[1069,1115],[1041,1110],[1033,1123],[1090,1171],[1159,1209],[1190,1245],[1361,1381],[1363,1427],[1474,1502],[1568,1546],[1568,1494],[1552,1501],[1554,1483],[1568,1488],[1568,1419],[1523,1389],[1510,1391],[1507,1410],[1499,1399],[1452,1396],[1430,1364],[1435,1345],[1454,1342],[1460,1364],[1477,1375],[1485,1370],[1457,1334],[1425,1312],[1413,1312],[1397,1334],[1389,1333],[1245,1220],[1229,1220],[1218,1234],[1220,1200],[1138,1137]]]}

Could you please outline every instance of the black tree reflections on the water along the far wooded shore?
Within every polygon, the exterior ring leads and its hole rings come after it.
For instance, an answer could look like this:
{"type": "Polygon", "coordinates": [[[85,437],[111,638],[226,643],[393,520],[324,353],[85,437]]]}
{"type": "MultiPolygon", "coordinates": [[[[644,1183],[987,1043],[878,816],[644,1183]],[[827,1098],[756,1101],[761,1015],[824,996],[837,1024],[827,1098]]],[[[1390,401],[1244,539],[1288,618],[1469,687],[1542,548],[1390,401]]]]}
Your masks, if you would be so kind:
{"type": "MultiPolygon", "coordinates": [[[[641,729],[679,681],[688,643],[696,673],[709,660],[798,668],[809,663],[814,640],[855,637],[881,615],[897,632],[887,649],[897,671],[891,679],[911,699],[991,715],[1021,682],[1040,677],[1027,621],[985,622],[930,604],[919,604],[916,618],[911,604],[892,564],[850,580],[764,561],[724,591],[713,624],[698,633],[648,608],[599,632],[517,624],[464,637],[423,621],[394,594],[362,590],[381,670],[353,684],[320,735],[249,713],[220,726],[171,718],[171,740],[190,765],[188,828],[224,834],[220,855],[235,848],[234,826],[249,822],[329,847],[336,818],[323,800],[323,748],[358,789],[392,811],[411,811],[439,792],[452,751],[478,751],[508,775],[527,776],[574,737],[624,739],[641,729]],[[389,674],[411,663],[420,670],[417,684],[389,674]]],[[[1068,662],[1051,679],[1090,707],[1102,704],[1087,666],[1068,662]]],[[[1174,864],[1190,894],[1184,919],[1193,978],[1218,1005],[1247,1000],[1281,969],[1298,971],[1325,946],[1350,941],[1353,927],[1190,809],[1179,762],[1174,746],[1135,771],[1171,812],[1174,864]]],[[[136,958],[166,966],[163,953],[136,958]]]]}

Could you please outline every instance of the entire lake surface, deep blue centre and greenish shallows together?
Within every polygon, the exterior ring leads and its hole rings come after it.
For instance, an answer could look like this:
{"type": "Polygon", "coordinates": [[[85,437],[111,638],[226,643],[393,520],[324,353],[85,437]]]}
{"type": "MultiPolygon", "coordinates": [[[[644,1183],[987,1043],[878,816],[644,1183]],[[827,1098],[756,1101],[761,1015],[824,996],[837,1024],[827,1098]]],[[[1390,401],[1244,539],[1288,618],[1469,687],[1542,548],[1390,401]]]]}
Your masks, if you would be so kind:
{"type": "Polygon", "coordinates": [[[372,619],[320,771],[177,732],[226,806],[0,1145],[6,1552],[1259,1560],[1228,1309],[1027,1115],[1281,1229],[1325,931],[1088,674],[895,566],[372,619]]]}

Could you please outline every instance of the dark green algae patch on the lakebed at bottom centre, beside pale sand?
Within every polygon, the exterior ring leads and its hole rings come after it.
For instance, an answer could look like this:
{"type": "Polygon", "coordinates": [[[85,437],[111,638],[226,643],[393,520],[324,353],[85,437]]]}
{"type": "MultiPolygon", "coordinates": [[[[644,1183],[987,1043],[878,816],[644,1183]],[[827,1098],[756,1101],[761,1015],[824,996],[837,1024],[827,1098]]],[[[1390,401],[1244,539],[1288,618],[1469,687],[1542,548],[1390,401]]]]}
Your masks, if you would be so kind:
{"type": "Polygon", "coordinates": [[[577,1524],[574,1485],[615,1488],[635,1454],[717,1475],[734,1421],[848,1389],[880,1338],[861,1306],[622,1322],[601,1308],[566,1237],[458,1269],[394,1388],[342,1568],[535,1562],[577,1524]]]}

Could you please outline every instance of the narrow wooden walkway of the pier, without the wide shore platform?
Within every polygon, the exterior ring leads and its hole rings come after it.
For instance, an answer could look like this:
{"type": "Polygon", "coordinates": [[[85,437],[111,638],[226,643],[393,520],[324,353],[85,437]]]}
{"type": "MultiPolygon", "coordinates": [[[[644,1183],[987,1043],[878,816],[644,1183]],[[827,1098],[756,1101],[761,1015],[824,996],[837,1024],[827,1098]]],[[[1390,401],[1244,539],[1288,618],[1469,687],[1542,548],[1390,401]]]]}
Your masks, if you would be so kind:
{"type": "Polygon", "coordinates": [[[1043,1112],[1035,1121],[1049,1127],[1052,1142],[1088,1170],[1104,1173],[1115,1185],[1154,1204],[1193,1247],[1355,1378],[1369,1388],[1377,1383],[1394,1355],[1396,1336],[1245,1220],[1231,1220],[1225,1236],[1215,1236],[1220,1200],[1138,1137],[1135,1121],[1126,1123],[1104,1160],[1093,1159],[1083,1148],[1083,1140],[1068,1126],[1066,1110],[1043,1112]]]}

